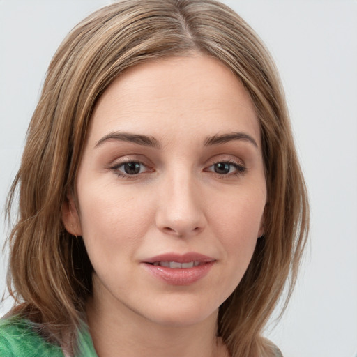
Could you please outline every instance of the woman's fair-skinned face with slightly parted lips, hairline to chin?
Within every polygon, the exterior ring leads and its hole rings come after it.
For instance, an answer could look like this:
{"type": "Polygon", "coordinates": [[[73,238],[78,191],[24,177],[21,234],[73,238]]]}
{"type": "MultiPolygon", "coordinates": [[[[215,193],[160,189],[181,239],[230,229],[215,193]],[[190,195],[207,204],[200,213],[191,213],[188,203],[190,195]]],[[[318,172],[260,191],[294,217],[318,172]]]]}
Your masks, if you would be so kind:
{"type": "Polygon", "coordinates": [[[216,316],[263,234],[259,123],[242,84],[200,54],[130,68],[95,107],[76,192],[63,222],[84,239],[95,303],[165,326],[216,316]]]}

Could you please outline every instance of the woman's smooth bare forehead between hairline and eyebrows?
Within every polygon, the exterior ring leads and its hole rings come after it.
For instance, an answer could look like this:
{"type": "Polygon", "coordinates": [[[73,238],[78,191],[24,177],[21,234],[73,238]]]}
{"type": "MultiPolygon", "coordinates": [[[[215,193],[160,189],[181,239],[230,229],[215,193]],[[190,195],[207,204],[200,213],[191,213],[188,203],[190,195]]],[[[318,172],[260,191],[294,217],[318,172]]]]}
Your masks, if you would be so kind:
{"type": "Polygon", "coordinates": [[[245,130],[259,141],[259,123],[243,84],[217,59],[170,57],[129,68],[102,94],[89,140],[109,131],[215,135],[245,130]]]}

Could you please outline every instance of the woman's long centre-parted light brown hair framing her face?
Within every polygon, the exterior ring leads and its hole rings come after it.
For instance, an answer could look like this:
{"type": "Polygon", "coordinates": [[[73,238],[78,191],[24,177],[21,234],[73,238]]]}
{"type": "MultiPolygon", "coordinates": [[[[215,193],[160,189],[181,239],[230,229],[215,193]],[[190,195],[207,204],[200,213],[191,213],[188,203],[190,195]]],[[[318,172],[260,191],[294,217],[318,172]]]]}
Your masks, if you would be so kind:
{"type": "Polygon", "coordinates": [[[126,68],[165,56],[202,52],[241,80],[255,105],[262,138],[268,203],[265,235],[231,296],[220,306],[218,334],[231,356],[271,356],[261,337],[288,282],[296,282],[308,230],[305,183],[277,71],[241,17],[213,0],[126,0],[80,22],[57,50],[27,133],[22,163],[8,196],[18,219],[8,243],[10,314],[40,326],[56,344],[76,346],[91,294],[91,263],[82,238],[61,222],[93,107],[126,68]]]}

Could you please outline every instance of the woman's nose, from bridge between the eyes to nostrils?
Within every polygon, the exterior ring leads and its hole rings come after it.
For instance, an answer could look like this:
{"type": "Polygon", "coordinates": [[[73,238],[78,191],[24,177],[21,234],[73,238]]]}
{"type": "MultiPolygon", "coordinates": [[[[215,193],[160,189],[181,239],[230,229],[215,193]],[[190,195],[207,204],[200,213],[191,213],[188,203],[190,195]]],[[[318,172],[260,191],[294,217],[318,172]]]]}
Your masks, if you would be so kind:
{"type": "Polygon", "coordinates": [[[160,185],[156,226],[182,238],[195,236],[206,227],[204,195],[189,174],[172,175],[160,185]]]}

